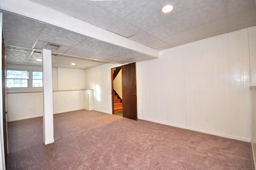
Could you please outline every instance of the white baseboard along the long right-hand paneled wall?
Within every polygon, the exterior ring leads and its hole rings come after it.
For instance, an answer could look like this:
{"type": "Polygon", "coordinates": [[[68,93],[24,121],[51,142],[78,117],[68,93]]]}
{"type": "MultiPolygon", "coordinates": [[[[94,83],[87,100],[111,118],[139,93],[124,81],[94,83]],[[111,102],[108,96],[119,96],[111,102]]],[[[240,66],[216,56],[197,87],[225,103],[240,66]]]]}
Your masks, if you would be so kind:
{"type": "Polygon", "coordinates": [[[174,127],[177,127],[177,128],[193,130],[193,131],[201,132],[201,133],[205,133],[205,134],[212,134],[212,135],[220,136],[220,137],[224,137],[224,138],[241,140],[241,141],[244,141],[244,142],[251,142],[251,139],[248,139],[248,138],[241,138],[241,137],[238,137],[238,136],[231,136],[231,135],[227,135],[227,134],[220,134],[220,133],[216,133],[216,132],[209,132],[209,131],[206,131],[206,130],[190,128],[190,127],[187,127],[187,126],[180,126],[180,125],[177,125],[177,124],[171,124],[171,123],[168,123],[168,122],[162,122],[162,121],[152,120],[152,119],[148,119],[148,118],[138,117],[138,119],[147,120],[147,121],[150,121],[150,122],[155,122],[155,123],[160,123],[160,124],[165,124],[165,125],[168,125],[168,126],[174,126],[174,127]]]}

